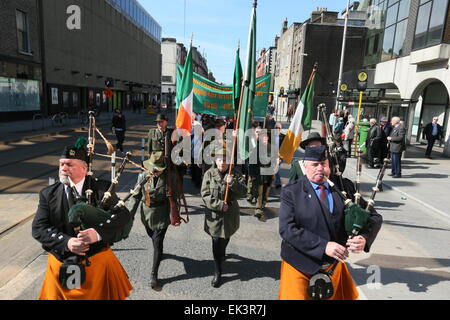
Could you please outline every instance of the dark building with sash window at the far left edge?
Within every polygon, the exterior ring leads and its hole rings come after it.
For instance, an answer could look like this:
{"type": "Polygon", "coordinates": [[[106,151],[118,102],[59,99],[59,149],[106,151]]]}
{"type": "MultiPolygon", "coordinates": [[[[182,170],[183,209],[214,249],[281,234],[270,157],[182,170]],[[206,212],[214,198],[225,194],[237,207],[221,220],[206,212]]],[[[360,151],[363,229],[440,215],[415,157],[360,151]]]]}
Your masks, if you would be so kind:
{"type": "Polygon", "coordinates": [[[0,1],[0,121],[43,108],[39,1],[0,1]]]}

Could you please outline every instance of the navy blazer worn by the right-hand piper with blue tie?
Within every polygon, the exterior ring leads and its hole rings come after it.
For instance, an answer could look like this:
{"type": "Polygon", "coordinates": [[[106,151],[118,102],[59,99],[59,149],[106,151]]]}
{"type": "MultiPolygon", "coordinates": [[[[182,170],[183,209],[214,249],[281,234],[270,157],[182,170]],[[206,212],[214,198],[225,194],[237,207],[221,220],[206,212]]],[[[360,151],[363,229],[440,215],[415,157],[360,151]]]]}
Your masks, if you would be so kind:
{"type": "MultiPolygon", "coordinates": [[[[347,192],[353,195],[354,188],[351,181],[346,179],[345,184],[349,189],[347,192]]],[[[343,246],[347,242],[344,203],[334,188],[332,195],[334,210],[330,214],[323,210],[305,176],[288,184],[281,191],[279,217],[281,258],[303,273],[315,274],[325,262],[334,262],[325,254],[329,241],[343,246]]],[[[361,234],[366,239],[364,251],[369,252],[382,221],[381,215],[371,210],[368,231],[361,234]]]]}

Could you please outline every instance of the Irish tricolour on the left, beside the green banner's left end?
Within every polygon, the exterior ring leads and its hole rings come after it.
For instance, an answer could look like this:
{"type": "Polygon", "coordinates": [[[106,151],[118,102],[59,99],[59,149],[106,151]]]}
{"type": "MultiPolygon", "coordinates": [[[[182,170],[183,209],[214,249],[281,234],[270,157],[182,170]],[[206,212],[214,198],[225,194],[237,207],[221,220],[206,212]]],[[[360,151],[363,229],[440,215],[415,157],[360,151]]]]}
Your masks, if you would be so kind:
{"type": "Polygon", "coordinates": [[[184,65],[183,77],[181,83],[177,83],[177,92],[180,90],[180,105],[178,107],[178,115],[175,126],[178,129],[187,130],[187,133],[192,132],[192,118],[193,118],[193,85],[192,85],[193,71],[192,71],[192,49],[186,58],[184,65]]]}

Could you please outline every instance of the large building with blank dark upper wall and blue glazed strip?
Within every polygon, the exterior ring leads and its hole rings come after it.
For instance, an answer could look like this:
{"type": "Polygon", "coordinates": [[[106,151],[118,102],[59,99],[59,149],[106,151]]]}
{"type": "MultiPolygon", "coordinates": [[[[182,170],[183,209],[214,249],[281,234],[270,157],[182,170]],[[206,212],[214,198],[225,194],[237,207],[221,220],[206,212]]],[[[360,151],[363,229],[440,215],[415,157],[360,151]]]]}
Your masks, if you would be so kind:
{"type": "Polygon", "coordinates": [[[41,4],[47,114],[142,106],[160,93],[161,27],[136,0],[41,4]]]}

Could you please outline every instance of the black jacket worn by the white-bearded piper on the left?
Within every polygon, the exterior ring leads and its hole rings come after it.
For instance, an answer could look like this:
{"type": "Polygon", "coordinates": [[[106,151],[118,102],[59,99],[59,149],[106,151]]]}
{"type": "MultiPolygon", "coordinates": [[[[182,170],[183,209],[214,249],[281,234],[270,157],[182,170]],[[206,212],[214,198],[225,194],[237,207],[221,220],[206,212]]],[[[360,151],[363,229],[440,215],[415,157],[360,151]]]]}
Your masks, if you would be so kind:
{"type": "MultiPolygon", "coordinates": [[[[83,185],[84,191],[88,188],[89,177],[83,185]]],[[[92,180],[93,198],[95,203],[100,203],[103,194],[109,188],[109,182],[104,180],[92,180]]],[[[116,203],[117,195],[113,194],[111,203],[116,203]]],[[[57,182],[41,190],[39,193],[39,205],[32,224],[32,235],[42,244],[42,248],[52,253],[58,260],[74,256],[67,248],[67,243],[72,237],[76,237],[73,228],[68,223],[69,204],[67,201],[64,185],[57,182]]],[[[126,208],[116,209],[115,218],[110,223],[104,223],[102,227],[95,227],[95,230],[102,237],[102,241],[94,243],[87,252],[92,256],[109,244],[118,230],[127,224],[131,215],[126,208]]]]}

